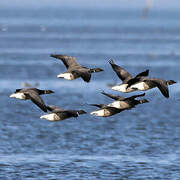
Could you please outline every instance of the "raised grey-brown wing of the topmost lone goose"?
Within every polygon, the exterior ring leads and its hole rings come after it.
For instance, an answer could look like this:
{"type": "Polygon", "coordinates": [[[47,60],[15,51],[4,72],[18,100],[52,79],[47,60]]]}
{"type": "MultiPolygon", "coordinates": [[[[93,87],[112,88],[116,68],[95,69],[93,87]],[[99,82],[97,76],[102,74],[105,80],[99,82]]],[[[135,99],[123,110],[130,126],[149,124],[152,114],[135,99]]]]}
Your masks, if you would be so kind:
{"type": "Polygon", "coordinates": [[[71,68],[74,66],[80,66],[77,61],[76,58],[74,58],[73,56],[66,56],[66,55],[60,55],[60,54],[51,54],[51,57],[54,57],[56,59],[60,59],[64,65],[66,66],[66,68],[71,68]]]}

